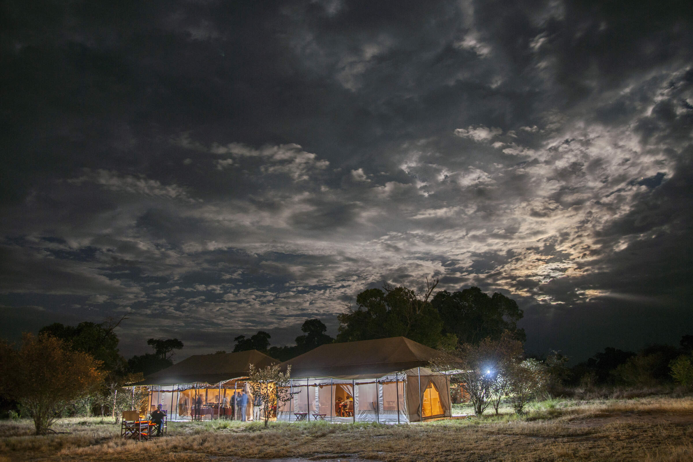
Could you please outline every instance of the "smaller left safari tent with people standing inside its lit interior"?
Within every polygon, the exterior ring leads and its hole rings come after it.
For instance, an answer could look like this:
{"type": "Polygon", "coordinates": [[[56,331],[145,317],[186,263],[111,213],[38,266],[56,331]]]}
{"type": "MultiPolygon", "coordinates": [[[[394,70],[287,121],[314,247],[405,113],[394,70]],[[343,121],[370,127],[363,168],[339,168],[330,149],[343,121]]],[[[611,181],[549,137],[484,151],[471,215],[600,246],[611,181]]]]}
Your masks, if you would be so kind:
{"type": "MultiPolygon", "coordinates": [[[[252,395],[246,380],[250,364],[263,368],[277,363],[277,360],[258,350],[193,355],[148,375],[134,385],[148,387],[149,411],[160,404],[169,420],[193,419],[198,397],[202,398],[199,418],[240,418],[239,409],[230,406],[231,396],[238,391],[252,395]]],[[[246,408],[246,416],[252,416],[252,397],[246,408]]]]}

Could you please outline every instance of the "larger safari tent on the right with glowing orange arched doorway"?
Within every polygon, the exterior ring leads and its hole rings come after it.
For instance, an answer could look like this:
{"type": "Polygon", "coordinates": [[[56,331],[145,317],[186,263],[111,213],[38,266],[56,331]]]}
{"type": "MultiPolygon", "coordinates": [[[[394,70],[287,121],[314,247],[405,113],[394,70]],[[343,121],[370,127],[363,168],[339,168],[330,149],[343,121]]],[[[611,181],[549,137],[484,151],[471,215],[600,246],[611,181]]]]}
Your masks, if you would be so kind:
{"type": "Polygon", "coordinates": [[[292,399],[278,420],[419,422],[450,417],[444,373],[427,366],[441,352],[405,337],[326,344],[282,363],[292,399]]]}

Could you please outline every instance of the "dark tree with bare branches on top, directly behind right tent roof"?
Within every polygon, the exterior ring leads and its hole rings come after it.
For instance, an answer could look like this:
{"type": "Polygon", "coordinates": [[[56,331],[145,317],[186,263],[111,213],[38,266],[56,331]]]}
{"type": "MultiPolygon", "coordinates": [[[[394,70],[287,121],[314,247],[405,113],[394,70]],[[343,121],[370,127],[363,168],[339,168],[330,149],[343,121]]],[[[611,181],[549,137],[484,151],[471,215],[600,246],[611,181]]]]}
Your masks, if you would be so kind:
{"type": "Polygon", "coordinates": [[[443,323],[428,301],[437,283],[437,280],[428,283],[423,294],[404,286],[385,285],[385,292],[380,289],[364,290],[356,296],[356,310],[350,305],[346,312],[337,315],[340,321],[337,341],[402,336],[437,348],[443,339],[443,323]]]}

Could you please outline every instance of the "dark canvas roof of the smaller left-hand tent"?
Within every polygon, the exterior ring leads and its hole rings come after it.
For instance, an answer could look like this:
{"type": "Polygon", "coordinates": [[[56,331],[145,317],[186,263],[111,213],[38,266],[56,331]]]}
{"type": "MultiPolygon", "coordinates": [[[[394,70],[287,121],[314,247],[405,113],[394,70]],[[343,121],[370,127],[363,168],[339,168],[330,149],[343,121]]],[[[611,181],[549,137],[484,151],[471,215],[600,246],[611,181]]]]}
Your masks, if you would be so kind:
{"type": "Polygon", "coordinates": [[[257,368],[263,368],[277,363],[276,359],[272,359],[258,350],[193,355],[162,371],[148,375],[135,385],[171,385],[198,382],[218,384],[226,380],[247,376],[250,364],[254,364],[257,368]]]}

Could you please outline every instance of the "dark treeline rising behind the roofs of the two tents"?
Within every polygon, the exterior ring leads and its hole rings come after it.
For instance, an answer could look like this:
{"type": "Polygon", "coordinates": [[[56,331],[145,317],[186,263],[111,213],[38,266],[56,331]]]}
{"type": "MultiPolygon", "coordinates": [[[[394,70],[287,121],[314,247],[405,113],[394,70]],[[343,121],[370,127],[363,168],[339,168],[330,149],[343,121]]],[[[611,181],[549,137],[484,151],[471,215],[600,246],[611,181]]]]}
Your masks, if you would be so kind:
{"type": "Polygon", "coordinates": [[[503,332],[525,340],[525,330],[517,327],[523,310],[516,301],[499,293],[489,296],[479,287],[453,293],[441,290],[431,297],[436,285],[433,281],[423,292],[388,285],[360,292],[356,305],[337,315],[340,325],[335,339],[324,333],[327,328],[322,321],[308,319],[301,326],[305,334],[296,337],[295,346],[270,347],[270,334],[260,330],[249,338],[236,337],[234,352],[255,349],[286,361],[322,344],[387,337],[407,337],[440,350],[500,339],[503,332]]]}

